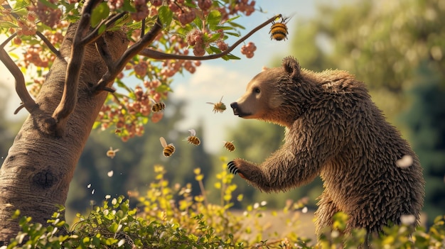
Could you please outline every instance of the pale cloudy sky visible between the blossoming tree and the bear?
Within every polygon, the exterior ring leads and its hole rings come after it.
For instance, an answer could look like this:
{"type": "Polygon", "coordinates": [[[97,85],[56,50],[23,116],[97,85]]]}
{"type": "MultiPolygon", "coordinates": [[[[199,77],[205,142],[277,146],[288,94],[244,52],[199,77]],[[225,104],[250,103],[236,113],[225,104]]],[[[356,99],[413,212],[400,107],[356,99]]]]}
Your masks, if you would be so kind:
{"type": "MultiPolygon", "coordinates": [[[[271,40],[269,27],[266,26],[262,30],[254,33],[245,42],[252,41],[255,43],[257,50],[254,57],[247,59],[242,55],[240,48],[235,48],[232,52],[241,60],[225,61],[217,59],[212,61],[203,61],[194,74],[185,73],[174,78],[171,87],[173,93],[169,95],[172,100],[186,100],[187,106],[184,108],[186,118],[178,123],[178,130],[187,132],[188,129],[195,128],[202,123],[204,134],[197,134],[198,137],[205,138],[203,146],[209,153],[220,152],[222,143],[215,141],[228,140],[226,138],[227,131],[230,128],[236,128],[240,118],[233,115],[230,109],[230,103],[236,101],[244,92],[247,83],[261,72],[262,67],[272,67],[272,62],[289,55],[291,40],[294,39],[292,31],[298,28],[297,20],[301,18],[310,18],[316,13],[316,4],[329,3],[338,4],[341,0],[328,1],[306,1],[306,0],[259,0],[256,3],[257,9],[261,8],[263,12],[255,11],[251,16],[241,17],[237,19],[237,23],[245,26],[245,30],[241,31],[241,35],[245,35],[252,28],[260,23],[267,21],[278,13],[282,13],[284,17],[290,17],[287,26],[289,28],[288,40],[271,40]],[[218,102],[223,96],[223,103],[226,104],[227,110],[220,113],[213,113],[213,106],[206,102],[218,102]]],[[[0,42],[6,37],[0,36],[0,42]]],[[[304,39],[304,38],[301,38],[304,39]]],[[[229,40],[230,43],[231,40],[229,40]]],[[[230,45],[230,44],[229,44],[230,45]]],[[[298,59],[298,55],[295,55],[298,59]]],[[[22,120],[26,115],[26,110],[22,110],[18,115],[14,116],[14,110],[20,104],[20,99],[14,90],[14,78],[8,70],[0,63],[0,83],[6,84],[9,88],[11,98],[7,104],[6,118],[10,120],[22,120]]]]}

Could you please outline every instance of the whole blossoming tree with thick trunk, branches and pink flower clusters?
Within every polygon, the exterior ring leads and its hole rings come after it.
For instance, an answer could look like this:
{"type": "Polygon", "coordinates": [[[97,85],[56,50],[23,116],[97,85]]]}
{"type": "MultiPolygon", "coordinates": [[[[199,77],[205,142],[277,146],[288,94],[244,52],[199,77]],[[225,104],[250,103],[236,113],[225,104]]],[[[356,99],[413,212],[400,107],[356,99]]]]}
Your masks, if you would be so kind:
{"type": "MultiPolygon", "coordinates": [[[[163,3],[3,2],[1,33],[10,36],[0,45],[0,60],[16,80],[23,102],[17,111],[24,108],[30,115],[0,168],[0,241],[18,231],[17,221],[11,220],[16,209],[44,224],[56,205],[65,203],[93,126],[115,127],[122,140],[142,135],[144,123],[162,118],[151,106],[167,98],[174,74],[194,72],[199,64],[193,60],[238,59],[230,52],[279,18],[270,18],[229,47],[225,40],[239,35],[242,27],[233,16],[250,15],[254,1],[163,3]],[[18,65],[9,55],[18,56],[6,52],[6,44],[26,48],[18,65]],[[194,56],[188,55],[189,48],[194,56]],[[31,74],[35,99],[23,72],[31,74]],[[125,84],[124,74],[142,84],[125,84]]],[[[252,46],[243,48],[250,57],[252,46]]]]}

